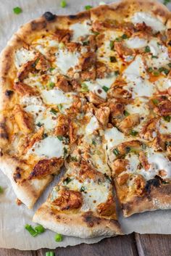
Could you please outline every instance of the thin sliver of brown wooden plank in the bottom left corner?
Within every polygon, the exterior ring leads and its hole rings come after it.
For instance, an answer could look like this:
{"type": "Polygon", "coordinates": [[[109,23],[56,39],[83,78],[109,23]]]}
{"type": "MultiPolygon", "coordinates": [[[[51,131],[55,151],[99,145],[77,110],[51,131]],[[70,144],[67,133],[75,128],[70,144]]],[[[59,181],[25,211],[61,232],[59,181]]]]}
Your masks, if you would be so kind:
{"type": "Polygon", "coordinates": [[[0,256],[37,256],[37,252],[20,251],[18,249],[0,249],[0,256]]]}

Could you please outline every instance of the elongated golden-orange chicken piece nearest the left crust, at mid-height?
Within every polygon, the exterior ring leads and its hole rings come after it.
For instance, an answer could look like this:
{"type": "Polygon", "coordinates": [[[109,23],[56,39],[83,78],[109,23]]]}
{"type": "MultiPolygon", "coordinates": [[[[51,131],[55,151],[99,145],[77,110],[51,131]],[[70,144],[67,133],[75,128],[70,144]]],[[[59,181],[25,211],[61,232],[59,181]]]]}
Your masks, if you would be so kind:
{"type": "Polygon", "coordinates": [[[20,131],[25,134],[33,132],[33,117],[25,112],[19,104],[15,105],[12,114],[14,115],[14,120],[20,128],[20,131]]]}

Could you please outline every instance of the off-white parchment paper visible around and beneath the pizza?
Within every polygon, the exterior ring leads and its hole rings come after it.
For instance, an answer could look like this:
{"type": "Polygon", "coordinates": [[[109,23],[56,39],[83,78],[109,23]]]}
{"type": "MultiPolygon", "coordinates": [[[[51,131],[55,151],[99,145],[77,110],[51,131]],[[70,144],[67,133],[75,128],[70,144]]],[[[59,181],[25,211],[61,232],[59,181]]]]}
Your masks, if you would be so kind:
{"type": "MultiPolygon", "coordinates": [[[[111,3],[112,1],[106,0],[105,2],[111,3]]],[[[99,1],[67,0],[68,6],[64,9],[60,7],[59,3],[60,0],[0,0],[0,50],[4,48],[9,38],[20,25],[39,17],[46,11],[51,11],[58,15],[74,14],[83,10],[87,4],[95,7],[99,4],[99,1]],[[12,12],[12,9],[17,6],[22,7],[23,12],[20,15],[14,15],[12,12]]],[[[0,186],[4,188],[4,194],[0,196],[0,247],[23,250],[43,247],[54,249],[81,243],[92,244],[104,238],[78,239],[64,236],[64,240],[57,243],[54,241],[54,233],[51,231],[46,231],[36,238],[33,238],[25,231],[24,226],[26,223],[34,225],[31,222],[33,213],[46,200],[51,187],[55,183],[57,183],[57,178],[44,192],[41,199],[38,200],[34,209],[28,210],[24,205],[20,207],[15,205],[15,195],[9,180],[0,171],[0,186]]],[[[133,231],[141,234],[171,234],[171,210],[146,212],[126,219],[120,216],[120,223],[125,234],[130,234],[133,231]]]]}

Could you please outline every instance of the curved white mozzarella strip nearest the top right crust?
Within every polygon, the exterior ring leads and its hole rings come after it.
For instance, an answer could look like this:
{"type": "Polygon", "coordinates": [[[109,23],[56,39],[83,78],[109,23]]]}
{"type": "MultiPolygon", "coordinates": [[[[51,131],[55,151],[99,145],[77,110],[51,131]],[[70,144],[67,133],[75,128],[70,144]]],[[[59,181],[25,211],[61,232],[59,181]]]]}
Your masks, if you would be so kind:
{"type": "Polygon", "coordinates": [[[154,31],[165,30],[164,24],[147,12],[135,12],[131,20],[134,24],[145,22],[146,25],[151,27],[154,31]]]}

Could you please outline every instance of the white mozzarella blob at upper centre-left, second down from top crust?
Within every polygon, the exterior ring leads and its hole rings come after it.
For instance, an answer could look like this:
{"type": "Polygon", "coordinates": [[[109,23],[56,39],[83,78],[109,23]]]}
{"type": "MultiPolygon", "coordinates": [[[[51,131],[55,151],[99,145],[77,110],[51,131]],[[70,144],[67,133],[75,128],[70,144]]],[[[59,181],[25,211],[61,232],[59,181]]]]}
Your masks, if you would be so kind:
{"type": "Polygon", "coordinates": [[[62,74],[67,75],[67,71],[70,70],[71,67],[74,68],[76,65],[78,65],[79,56],[80,54],[78,52],[71,52],[67,51],[66,49],[59,49],[56,54],[56,64],[62,74]]]}

